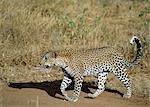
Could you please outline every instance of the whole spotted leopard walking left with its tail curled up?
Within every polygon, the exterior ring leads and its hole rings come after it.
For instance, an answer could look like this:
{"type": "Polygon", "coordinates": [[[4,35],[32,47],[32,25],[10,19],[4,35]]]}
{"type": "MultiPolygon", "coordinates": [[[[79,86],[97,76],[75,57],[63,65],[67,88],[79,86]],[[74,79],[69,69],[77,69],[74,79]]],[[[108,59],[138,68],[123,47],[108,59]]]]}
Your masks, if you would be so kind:
{"type": "Polygon", "coordinates": [[[96,91],[87,94],[90,98],[96,98],[105,90],[109,73],[114,74],[127,89],[123,97],[130,98],[132,84],[127,71],[140,63],[143,52],[141,39],[138,36],[134,35],[130,39],[130,44],[134,46],[134,58],[131,61],[128,61],[119,50],[106,46],[75,51],[49,51],[44,54],[40,66],[44,69],[51,69],[54,66],[62,69],[64,76],[60,91],[67,101],[76,102],[79,99],[83,79],[86,76],[97,78],[96,91]],[[68,96],[66,88],[72,82],[74,82],[73,94],[68,96]]]}

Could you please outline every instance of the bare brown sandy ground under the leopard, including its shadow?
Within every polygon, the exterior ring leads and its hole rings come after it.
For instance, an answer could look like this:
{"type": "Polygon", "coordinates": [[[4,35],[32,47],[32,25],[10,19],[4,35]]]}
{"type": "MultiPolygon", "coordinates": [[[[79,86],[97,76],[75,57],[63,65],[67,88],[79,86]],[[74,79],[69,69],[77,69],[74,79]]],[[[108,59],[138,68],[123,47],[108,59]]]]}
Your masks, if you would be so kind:
{"type": "MultiPolygon", "coordinates": [[[[149,107],[148,98],[123,99],[120,93],[107,90],[95,99],[86,98],[95,89],[84,86],[76,103],[63,100],[60,82],[11,84],[0,91],[0,107],[149,107]]],[[[68,89],[69,94],[72,90],[68,89]]]]}

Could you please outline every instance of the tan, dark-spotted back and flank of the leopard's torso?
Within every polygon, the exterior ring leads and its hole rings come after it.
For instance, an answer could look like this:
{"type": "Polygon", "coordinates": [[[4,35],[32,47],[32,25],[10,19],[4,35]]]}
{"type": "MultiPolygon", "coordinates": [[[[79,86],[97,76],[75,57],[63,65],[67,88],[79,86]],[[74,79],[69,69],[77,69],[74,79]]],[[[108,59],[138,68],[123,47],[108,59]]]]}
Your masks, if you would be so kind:
{"type": "MultiPolygon", "coordinates": [[[[66,53],[68,54],[68,53],[66,53]]],[[[85,72],[87,69],[93,69],[104,65],[115,67],[117,62],[126,63],[124,56],[112,47],[103,47],[97,49],[77,50],[69,54],[67,64],[74,71],[85,72]]]]}

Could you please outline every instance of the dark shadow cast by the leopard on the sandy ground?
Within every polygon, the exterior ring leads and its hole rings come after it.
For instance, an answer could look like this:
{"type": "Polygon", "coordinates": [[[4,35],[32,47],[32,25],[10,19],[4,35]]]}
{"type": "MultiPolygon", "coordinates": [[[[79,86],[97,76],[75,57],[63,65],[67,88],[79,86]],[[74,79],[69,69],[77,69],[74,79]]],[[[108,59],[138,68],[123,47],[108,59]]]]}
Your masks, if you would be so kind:
{"type": "MultiPolygon", "coordinates": [[[[35,89],[41,89],[44,90],[48,93],[48,95],[58,98],[58,99],[62,99],[60,97],[55,96],[56,94],[60,94],[62,95],[61,91],[60,91],[60,84],[61,84],[61,80],[57,80],[57,81],[53,81],[53,82],[41,82],[41,83],[32,83],[32,82],[28,82],[28,83],[10,83],[9,87],[12,88],[35,88],[35,89]]],[[[96,86],[91,85],[90,83],[83,83],[83,87],[82,87],[82,91],[85,93],[92,93],[89,88],[92,89],[96,89],[96,86]]],[[[71,84],[67,90],[73,90],[73,84],[71,84]]],[[[111,93],[117,93],[121,96],[123,96],[122,93],[120,93],[117,90],[112,90],[112,89],[105,89],[105,91],[107,92],[111,92],[111,93]]],[[[62,95],[63,96],[63,95],[62,95]]],[[[86,97],[88,98],[88,97],[86,97]]],[[[62,99],[63,100],[63,99],[62,99]]]]}

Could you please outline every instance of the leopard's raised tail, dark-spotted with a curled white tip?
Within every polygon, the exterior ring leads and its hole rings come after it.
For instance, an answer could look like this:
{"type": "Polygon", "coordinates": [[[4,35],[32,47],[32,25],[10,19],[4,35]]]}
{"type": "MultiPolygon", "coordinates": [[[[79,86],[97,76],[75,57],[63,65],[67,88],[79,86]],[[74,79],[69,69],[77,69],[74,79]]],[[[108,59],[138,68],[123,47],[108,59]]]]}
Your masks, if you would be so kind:
{"type": "Polygon", "coordinates": [[[137,36],[133,36],[132,39],[130,40],[130,43],[135,46],[135,57],[133,61],[130,63],[130,66],[134,66],[139,64],[142,57],[143,49],[141,40],[137,36]]]}

